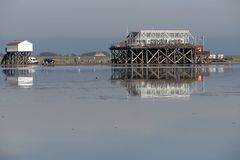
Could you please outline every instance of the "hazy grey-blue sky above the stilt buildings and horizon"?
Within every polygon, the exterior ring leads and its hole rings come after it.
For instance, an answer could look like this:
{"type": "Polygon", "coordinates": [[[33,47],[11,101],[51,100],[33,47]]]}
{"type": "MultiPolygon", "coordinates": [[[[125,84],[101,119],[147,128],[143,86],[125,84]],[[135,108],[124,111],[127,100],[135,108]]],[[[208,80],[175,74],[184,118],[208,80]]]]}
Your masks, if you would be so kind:
{"type": "Polygon", "coordinates": [[[126,30],[187,29],[211,52],[239,54],[239,0],[0,0],[0,52],[11,40],[34,52],[109,51],[126,30]]]}

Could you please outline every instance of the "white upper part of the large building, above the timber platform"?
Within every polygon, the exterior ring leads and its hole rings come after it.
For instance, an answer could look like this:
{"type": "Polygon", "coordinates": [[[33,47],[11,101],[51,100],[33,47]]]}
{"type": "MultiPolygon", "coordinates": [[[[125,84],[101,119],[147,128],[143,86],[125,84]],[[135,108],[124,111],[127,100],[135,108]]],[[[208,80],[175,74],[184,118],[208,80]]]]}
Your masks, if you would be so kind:
{"type": "Polygon", "coordinates": [[[189,30],[141,30],[127,37],[129,45],[188,44],[194,37],[189,30]]]}

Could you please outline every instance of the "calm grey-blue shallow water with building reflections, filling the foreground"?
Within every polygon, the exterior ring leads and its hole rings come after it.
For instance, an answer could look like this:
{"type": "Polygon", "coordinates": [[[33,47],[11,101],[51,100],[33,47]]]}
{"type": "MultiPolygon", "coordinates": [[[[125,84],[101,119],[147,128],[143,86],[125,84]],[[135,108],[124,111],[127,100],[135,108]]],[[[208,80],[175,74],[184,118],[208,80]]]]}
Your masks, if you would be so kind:
{"type": "Polygon", "coordinates": [[[0,160],[238,160],[240,65],[0,69],[0,160]]]}

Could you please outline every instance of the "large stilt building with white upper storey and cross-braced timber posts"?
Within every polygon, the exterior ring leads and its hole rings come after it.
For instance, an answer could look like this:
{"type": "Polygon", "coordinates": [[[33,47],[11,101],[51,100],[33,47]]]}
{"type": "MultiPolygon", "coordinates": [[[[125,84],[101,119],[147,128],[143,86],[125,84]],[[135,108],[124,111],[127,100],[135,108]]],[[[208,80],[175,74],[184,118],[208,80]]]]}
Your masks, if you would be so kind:
{"type": "MultiPolygon", "coordinates": [[[[110,47],[113,64],[194,64],[194,37],[188,30],[142,30],[131,32],[110,47]]],[[[198,52],[200,54],[200,52],[198,52]]],[[[202,53],[202,52],[201,52],[202,53]]],[[[199,55],[198,54],[198,55],[199,55]]]]}

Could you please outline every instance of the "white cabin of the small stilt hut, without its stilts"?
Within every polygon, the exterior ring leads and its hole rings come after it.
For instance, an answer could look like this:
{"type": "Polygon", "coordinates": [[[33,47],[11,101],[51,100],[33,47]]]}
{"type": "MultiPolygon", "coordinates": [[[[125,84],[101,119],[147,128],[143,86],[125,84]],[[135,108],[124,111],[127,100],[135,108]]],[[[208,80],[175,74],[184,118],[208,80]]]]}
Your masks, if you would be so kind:
{"type": "Polygon", "coordinates": [[[27,40],[13,41],[7,44],[7,52],[32,52],[33,44],[27,40]]]}

